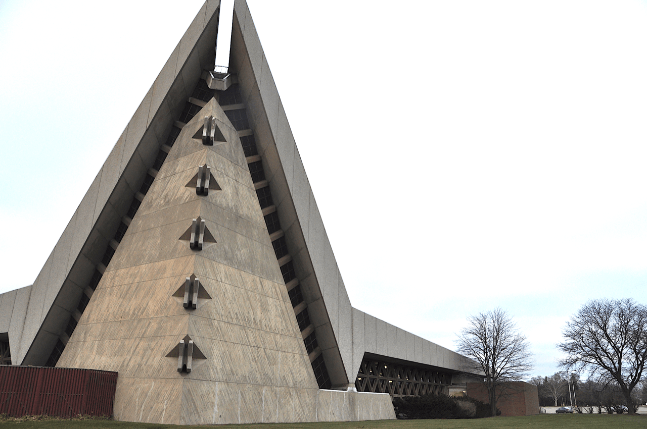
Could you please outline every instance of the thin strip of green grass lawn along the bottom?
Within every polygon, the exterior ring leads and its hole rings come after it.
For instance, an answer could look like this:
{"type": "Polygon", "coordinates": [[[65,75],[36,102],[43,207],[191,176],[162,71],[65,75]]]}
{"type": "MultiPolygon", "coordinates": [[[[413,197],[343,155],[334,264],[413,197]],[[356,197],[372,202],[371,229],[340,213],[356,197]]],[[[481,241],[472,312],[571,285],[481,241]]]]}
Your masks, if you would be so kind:
{"type": "MultiPolygon", "coordinates": [[[[1,428],[36,429],[163,429],[212,428],[172,424],[127,423],[109,420],[0,420],[1,428]]],[[[645,429],[647,416],[627,414],[540,414],[457,420],[380,420],[338,423],[236,424],[231,429],[645,429]]]]}

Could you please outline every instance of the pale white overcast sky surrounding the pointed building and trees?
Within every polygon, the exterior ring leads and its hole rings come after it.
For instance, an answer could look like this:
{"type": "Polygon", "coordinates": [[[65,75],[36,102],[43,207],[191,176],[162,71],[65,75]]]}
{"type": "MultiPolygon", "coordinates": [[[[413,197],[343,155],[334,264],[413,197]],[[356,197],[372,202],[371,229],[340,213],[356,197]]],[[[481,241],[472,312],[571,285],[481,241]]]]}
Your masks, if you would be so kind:
{"type": "MultiPolygon", "coordinates": [[[[0,292],[202,3],[0,0],[0,292]]],[[[248,3],[353,306],[452,349],[500,306],[551,375],[586,300],[647,304],[646,1],[248,3]]]]}

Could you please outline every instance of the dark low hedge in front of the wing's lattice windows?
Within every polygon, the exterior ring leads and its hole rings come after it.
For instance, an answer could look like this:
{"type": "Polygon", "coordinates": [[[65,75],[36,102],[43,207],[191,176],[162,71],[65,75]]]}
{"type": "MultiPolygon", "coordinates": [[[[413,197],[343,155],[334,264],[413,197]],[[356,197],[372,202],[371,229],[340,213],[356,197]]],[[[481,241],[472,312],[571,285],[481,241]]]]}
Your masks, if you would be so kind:
{"type": "Polygon", "coordinates": [[[489,404],[446,395],[393,398],[393,408],[398,419],[479,419],[492,415],[489,404]]]}

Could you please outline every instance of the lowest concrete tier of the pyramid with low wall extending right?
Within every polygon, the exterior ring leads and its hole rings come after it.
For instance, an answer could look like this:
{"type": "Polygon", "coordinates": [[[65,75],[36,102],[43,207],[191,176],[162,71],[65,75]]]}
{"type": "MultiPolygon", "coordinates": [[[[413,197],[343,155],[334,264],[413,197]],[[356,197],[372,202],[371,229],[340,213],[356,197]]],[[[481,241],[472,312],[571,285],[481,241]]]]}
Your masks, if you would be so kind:
{"type": "Polygon", "coordinates": [[[117,392],[117,421],[241,424],[395,419],[386,393],[133,379],[120,381],[117,392]],[[148,396],[162,400],[146,401],[148,396]]]}

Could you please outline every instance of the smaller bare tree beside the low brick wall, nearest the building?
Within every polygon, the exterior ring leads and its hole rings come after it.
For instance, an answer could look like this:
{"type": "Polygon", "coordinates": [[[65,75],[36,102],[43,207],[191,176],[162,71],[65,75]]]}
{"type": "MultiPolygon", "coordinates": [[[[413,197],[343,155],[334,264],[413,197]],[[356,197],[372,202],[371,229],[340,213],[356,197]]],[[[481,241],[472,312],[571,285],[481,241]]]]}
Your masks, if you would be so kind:
{"type": "Polygon", "coordinates": [[[458,336],[458,352],[472,359],[469,372],[483,372],[492,415],[504,395],[503,383],[521,381],[532,369],[526,337],[519,333],[506,311],[496,308],[468,319],[469,326],[458,336]]]}

